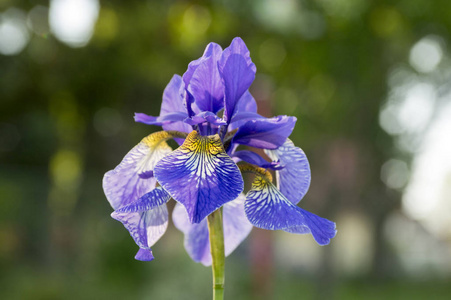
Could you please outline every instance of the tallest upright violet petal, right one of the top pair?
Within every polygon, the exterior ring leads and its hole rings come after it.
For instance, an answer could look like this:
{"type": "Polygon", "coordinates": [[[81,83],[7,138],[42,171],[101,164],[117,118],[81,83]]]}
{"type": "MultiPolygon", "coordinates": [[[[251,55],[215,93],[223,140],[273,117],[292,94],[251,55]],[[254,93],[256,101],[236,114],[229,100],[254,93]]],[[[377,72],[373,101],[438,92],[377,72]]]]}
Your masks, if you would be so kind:
{"type": "Polygon", "coordinates": [[[218,62],[218,68],[225,87],[224,119],[230,123],[235,112],[235,106],[244,92],[251,86],[256,72],[249,50],[242,39],[233,39],[230,46],[224,49],[218,62]]]}

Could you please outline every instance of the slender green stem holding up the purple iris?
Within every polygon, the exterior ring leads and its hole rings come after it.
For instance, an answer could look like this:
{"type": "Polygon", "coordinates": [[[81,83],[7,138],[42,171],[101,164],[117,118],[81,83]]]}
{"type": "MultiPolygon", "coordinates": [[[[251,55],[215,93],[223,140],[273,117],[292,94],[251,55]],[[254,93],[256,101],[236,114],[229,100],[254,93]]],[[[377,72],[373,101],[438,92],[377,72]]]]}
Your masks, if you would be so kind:
{"type": "Polygon", "coordinates": [[[224,299],[224,232],[222,229],[222,209],[208,216],[210,251],[213,270],[213,300],[224,299]]]}

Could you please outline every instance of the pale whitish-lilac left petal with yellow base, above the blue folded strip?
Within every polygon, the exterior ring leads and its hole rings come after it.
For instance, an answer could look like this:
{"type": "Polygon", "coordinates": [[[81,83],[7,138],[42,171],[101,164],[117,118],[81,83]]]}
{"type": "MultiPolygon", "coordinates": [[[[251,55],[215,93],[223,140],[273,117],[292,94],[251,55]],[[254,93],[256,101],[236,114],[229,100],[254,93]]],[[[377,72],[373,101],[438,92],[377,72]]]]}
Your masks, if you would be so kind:
{"type": "Polygon", "coordinates": [[[167,138],[161,131],[150,134],[130,150],[114,170],[105,174],[103,190],[114,209],[138,200],[155,187],[155,178],[148,178],[146,174],[172,151],[165,142],[167,138]]]}

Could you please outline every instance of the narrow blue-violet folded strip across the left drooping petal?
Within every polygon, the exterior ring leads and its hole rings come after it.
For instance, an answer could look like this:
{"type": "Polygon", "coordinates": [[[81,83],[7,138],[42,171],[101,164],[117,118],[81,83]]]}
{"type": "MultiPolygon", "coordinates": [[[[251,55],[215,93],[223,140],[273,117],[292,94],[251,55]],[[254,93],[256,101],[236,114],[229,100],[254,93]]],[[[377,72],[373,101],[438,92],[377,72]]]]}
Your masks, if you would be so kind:
{"type": "Polygon", "coordinates": [[[163,205],[170,199],[171,196],[161,186],[159,186],[139,198],[137,201],[117,209],[115,213],[118,214],[146,211],[163,205]]]}

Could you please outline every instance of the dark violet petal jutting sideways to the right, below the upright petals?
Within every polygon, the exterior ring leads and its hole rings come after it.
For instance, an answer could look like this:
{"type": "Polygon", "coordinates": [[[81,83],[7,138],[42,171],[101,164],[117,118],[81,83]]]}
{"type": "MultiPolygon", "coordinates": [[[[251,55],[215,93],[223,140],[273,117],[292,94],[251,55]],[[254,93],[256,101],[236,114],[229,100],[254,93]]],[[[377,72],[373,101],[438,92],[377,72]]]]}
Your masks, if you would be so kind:
{"type": "Polygon", "coordinates": [[[295,123],[295,117],[287,116],[247,121],[238,129],[232,142],[256,148],[277,149],[291,134],[295,123]]]}

